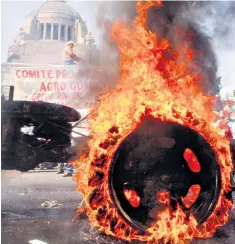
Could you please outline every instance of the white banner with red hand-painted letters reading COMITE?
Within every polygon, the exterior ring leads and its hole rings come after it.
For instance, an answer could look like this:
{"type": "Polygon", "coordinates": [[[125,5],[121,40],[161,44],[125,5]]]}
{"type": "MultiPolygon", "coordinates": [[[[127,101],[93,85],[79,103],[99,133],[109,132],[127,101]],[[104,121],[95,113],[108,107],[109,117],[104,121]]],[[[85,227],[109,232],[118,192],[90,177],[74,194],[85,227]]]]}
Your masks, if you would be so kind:
{"type": "Polygon", "coordinates": [[[44,101],[80,109],[95,102],[91,70],[77,66],[15,66],[14,100],[44,101]]]}

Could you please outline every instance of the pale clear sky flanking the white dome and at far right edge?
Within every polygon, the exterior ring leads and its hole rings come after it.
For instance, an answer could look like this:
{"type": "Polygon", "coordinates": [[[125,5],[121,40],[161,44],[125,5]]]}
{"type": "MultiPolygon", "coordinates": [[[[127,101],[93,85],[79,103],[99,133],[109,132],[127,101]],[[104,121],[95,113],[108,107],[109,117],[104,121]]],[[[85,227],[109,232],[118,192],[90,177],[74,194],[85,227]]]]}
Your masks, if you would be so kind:
{"type": "MultiPolygon", "coordinates": [[[[8,45],[15,39],[19,28],[23,25],[27,14],[38,8],[45,0],[42,1],[10,1],[1,0],[1,62],[7,59],[8,45]]],[[[96,17],[99,11],[99,2],[91,1],[67,1],[86,21],[88,30],[92,32],[99,44],[101,30],[96,25],[96,17]]],[[[235,23],[234,30],[235,30],[235,23]]],[[[209,27],[209,26],[208,26],[209,27]]],[[[235,35],[231,35],[234,38],[235,35]]],[[[231,38],[231,37],[230,37],[231,38]]],[[[216,56],[218,59],[218,75],[222,76],[222,95],[231,93],[235,89],[235,45],[233,48],[221,46],[214,41],[216,56]]]]}

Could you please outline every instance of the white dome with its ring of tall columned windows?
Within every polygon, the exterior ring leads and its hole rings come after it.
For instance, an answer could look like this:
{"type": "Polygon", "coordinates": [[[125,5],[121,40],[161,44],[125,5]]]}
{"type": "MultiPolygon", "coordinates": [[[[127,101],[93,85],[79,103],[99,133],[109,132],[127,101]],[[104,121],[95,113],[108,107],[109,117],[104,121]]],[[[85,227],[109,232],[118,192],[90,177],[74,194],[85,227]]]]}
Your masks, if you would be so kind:
{"type": "Polygon", "coordinates": [[[31,39],[84,43],[88,32],[79,13],[64,0],[47,0],[31,12],[25,22],[31,39]]]}

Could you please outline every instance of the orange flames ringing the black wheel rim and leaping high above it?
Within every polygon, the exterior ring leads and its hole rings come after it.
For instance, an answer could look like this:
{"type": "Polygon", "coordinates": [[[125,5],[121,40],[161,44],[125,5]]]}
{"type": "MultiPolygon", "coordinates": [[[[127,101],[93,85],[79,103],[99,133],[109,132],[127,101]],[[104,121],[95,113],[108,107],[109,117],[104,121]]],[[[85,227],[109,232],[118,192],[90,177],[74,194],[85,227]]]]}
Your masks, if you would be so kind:
{"type": "MultiPolygon", "coordinates": [[[[122,22],[112,26],[111,39],[120,51],[121,76],[117,87],[101,95],[93,109],[89,155],[75,162],[76,181],[87,203],[91,223],[106,234],[123,240],[185,243],[193,238],[211,237],[217,227],[228,221],[232,203],[225,194],[230,191],[233,166],[229,141],[214,126],[217,119],[212,110],[214,100],[202,92],[197,85],[198,74],[188,66],[193,62],[193,50],[184,45],[180,51],[173,50],[168,40],[160,40],[147,28],[149,7],[161,4],[138,2],[138,16],[131,28],[122,22]],[[109,191],[111,160],[144,114],[186,125],[202,135],[215,151],[222,172],[222,189],[216,208],[203,224],[199,225],[192,215],[186,216],[179,204],[170,209],[166,192],[156,197],[164,209],[145,234],[129,226],[117,212],[109,191]]],[[[136,199],[134,205],[139,204],[135,192],[126,192],[126,196],[136,199]]]]}

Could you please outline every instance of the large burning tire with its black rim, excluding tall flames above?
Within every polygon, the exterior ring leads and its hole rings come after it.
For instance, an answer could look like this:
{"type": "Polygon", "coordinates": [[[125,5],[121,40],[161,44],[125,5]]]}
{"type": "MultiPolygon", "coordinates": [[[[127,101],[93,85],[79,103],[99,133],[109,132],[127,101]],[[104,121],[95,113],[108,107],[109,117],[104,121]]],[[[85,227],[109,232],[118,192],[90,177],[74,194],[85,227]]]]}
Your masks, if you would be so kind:
{"type": "MultiPolygon", "coordinates": [[[[172,110],[178,118],[180,110],[172,110]]],[[[221,160],[228,148],[215,150],[194,129],[205,128],[203,120],[191,113],[184,120],[146,115],[122,138],[118,127],[110,128],[99,144],[107,154],[95,152],[89,166],[85,195],[93,224],[124,240],[166,240],[171,232],[174,242],[209,237],[227,221],[232,200],[221,160]],[[182,231],[188,234],[179,237],[182,231]]]]}

